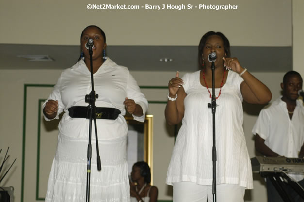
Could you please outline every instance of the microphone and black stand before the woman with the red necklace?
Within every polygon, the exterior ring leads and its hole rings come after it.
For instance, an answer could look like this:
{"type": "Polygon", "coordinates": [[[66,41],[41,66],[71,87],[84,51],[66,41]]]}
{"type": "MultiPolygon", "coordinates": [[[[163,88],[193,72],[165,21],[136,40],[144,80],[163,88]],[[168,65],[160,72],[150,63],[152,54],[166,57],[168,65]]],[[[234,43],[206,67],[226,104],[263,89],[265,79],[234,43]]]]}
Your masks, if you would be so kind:
{"type": "Polygon", "coordinates": [[[215,145],[215,109],[216,109],[216,98],[215,98],[215,79],[214,79],[214,61],[211,64],[212,70],[212,97],[211,103],[208,103],[208,108],[212,110],[212,129],[213,129],[213,146],[212,146],[212,164],[213,164],[213,181],[212,181],[212,194],[213,202],[216,202],[216,145],[215,145]]]}

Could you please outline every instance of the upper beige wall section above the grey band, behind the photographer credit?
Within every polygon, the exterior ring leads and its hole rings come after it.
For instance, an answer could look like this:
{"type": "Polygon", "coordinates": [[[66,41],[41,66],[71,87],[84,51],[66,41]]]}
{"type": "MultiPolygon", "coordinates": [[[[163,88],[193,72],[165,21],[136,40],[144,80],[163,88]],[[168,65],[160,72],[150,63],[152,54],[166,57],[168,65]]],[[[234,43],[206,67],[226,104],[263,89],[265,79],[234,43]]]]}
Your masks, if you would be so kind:
{"type": "MultiPolygon", "coordinates": [[[[300,0],[301,1],[301,0],[300,0]]],[[[291,0],[2,0],[0,43],[77,45],[89,24],[111,45],[197,45],[222,31],[233,46],[290,46],[291,0]],[[88,10],[87,4],[238,5],[237,10],[88,10]]]]}

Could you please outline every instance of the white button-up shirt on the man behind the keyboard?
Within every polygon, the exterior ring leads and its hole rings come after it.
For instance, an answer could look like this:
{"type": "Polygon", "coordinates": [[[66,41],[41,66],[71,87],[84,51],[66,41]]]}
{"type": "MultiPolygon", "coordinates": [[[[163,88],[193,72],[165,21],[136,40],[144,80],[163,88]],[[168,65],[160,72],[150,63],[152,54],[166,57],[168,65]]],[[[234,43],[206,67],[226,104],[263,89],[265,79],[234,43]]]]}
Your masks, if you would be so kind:
{"type": "MultiPolygon", "coordinates": [[[[273,152],[289,158],[298,158],[304,142],[303,102],[297,100],[290,120],[286,103],[279,97],[271,106],[261,110],[252,132],[264,139],[265,145],[273,152]]],[[[304,175],[292,177],[299,181],[304,175]]]]}

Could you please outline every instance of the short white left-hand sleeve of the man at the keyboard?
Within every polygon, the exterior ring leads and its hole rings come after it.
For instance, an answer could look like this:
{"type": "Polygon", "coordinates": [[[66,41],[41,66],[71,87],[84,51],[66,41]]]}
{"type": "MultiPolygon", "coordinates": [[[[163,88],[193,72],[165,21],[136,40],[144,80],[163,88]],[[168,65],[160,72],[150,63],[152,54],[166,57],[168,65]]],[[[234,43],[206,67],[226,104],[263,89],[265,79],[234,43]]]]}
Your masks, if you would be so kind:
{"type": "Polygon", "coordinates": [[[265,111],[265,109],[262,109],[256,120],[256,124],[252,129],[252,133],[254,135],[258,134],[261,138],[266,140],[269,136],[269,122],[270,120],[267,112],[265,111]]]}

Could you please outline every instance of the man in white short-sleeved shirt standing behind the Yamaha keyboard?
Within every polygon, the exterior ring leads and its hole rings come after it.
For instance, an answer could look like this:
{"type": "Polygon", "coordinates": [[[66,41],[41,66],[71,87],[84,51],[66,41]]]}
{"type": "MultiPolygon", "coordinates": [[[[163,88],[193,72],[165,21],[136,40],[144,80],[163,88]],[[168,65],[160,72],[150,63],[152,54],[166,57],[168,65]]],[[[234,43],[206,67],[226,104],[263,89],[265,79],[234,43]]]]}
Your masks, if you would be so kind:
{"type": "MultiPolygon", "coordinates": [[[[255,147],[262,155],[302,158],[304,156],[304,106],[298,100],[298,91],[303,80],[296,71],[289,71],[281,83],[282,95],[270,107],[262,109],[252,130],[255,134],[255,147]]],[[[304,187],[303,174],[290,174],[304,187]]],[[[288,192],[295,202],[304,202],[289,185],[288,192]]],[[[268,202],[283,202],[279,193],[267,180],[268,202]]]]}

